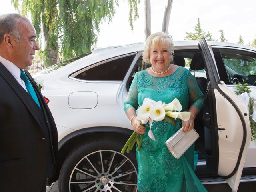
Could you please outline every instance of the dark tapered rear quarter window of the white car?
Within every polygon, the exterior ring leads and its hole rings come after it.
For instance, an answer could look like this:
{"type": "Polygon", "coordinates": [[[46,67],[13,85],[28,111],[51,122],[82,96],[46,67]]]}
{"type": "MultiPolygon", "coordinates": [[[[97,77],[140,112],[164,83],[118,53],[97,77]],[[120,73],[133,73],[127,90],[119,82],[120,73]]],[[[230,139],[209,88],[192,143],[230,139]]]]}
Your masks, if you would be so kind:
{"type": "Polygon", "coordinates": [[[111,61],[99,65],[95,64],[92,68],[83,70],[75,78],[82,80],[122,81],[134,56],[111,59],[111,61]]]}

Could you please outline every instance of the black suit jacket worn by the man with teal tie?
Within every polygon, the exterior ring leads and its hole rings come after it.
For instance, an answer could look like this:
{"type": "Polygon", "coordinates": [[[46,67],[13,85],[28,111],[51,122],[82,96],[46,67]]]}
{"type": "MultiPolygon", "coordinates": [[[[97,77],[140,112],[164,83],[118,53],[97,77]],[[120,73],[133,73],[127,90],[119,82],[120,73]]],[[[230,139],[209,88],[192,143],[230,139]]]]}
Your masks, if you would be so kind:
{"type": "MultiPolygon", "coordinates": [[[[31,76],[26,72],[31,81],[31,76]]],[[[38,88],[32,83],[42,112],[12,74],[0,63],[0,191],[38,192],[46,177],[46,154],[54,168],[58,135],[52,114],[38,88]],[[38,109],[37,109],[38,110],[38,109]],[[50,147],[46,147],[42,122],[47,127],[50,147]],[[50,152],[49,152],[50,150],[50,152]]],[[[51,168],[52,169],[52,168],[51,168]]],[[[51,172],[54,172],[53,170],[51,172]]]]}

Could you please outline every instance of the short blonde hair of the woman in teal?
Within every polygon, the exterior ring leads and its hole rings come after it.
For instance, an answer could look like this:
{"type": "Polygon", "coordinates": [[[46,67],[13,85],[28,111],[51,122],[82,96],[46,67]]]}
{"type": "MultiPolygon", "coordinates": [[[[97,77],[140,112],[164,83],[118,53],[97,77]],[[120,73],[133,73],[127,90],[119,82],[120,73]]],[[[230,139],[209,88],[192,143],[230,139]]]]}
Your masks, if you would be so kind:
{"type": "Polygon", "coordinates": [[[152,46],[155,46],[157,44],[160,45],[167,45],[169,48],[169,51],[171,53],[171,62],[173,61],[173,54],[174,54],[174,45],[172,43],[172,40],[169,38],[169,35],[164,32],[156,32],[154,34],[151,34],[147,40],[146,45],[143,52],[143,61],[146,63],[150,63],[150,48],[152,46]]]}

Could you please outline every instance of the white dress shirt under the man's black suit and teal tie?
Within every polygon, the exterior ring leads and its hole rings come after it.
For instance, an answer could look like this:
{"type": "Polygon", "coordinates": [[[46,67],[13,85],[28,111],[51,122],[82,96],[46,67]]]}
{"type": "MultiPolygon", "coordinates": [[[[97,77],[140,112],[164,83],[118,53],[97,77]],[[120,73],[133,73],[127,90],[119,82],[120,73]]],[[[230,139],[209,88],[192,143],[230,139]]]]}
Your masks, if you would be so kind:
{"type": "Polygon", "coordinates": [[[6,67],[6,69],[14,76],[17,82],[28,92],[25,82],[20,78],[20,68],[14,65],[9,60],[0,56],[0,62],[6,67]]]}

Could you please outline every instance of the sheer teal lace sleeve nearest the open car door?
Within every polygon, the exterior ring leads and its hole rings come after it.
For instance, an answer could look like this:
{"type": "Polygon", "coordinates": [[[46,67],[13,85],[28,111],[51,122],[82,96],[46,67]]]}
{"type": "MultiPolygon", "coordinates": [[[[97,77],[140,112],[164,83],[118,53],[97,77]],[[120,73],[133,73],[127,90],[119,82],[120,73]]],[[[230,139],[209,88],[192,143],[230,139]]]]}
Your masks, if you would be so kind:
{"type": "Polygon", "coordinates": [[[190,96],[190,103],[194,105],[198,111],[200,111],[204,106],[204,94],[200,90],[195,77],[187,71],[187,85],[190,96]]]}

